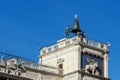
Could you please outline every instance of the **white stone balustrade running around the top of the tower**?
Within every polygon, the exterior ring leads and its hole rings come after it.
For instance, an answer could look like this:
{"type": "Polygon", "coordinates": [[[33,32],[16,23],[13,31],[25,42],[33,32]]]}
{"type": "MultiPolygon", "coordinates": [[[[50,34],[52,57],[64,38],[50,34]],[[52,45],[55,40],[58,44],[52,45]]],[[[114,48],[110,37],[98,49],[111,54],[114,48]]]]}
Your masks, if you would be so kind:
{"type": "Polygon", "coordinates": [[[52,46],[48,46],[48,47],[44,47],[41,49],[41,55],[52,52],[52,51],[56,51],[57,49],[72,45],[72,44],[77,44],[77,43],[84,43],[86,45],[98,48],[98,49],[102,49],[102,43],[100,42],[96,42],[93,40],[89,40],[87,38],[81,38],[79,36],[67,39],[67,38],[63,38],[59,41],[57,41],[57,44],[54,44],[52,46]]]}

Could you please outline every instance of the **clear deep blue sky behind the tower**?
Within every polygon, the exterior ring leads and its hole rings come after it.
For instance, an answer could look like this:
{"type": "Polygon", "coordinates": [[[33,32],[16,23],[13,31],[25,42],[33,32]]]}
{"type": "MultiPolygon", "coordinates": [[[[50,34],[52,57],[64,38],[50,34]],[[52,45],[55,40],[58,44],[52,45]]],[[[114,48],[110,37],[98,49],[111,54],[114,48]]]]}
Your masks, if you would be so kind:
{"type": "Polygon", "coordinates": [[[63,38],[74,14],[88,38],[111,43],[109,76],[118,80],[119,0],[0,0],[0,51],[37,61],[38,48],[63,38]]]}

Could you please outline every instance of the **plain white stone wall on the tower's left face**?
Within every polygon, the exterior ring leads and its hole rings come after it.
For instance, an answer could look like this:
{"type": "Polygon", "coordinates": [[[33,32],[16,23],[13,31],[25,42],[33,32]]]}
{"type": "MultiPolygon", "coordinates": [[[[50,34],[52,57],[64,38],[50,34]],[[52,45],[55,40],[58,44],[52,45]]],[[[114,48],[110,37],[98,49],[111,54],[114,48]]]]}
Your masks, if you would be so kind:
{"type": "Polygon", "coordinates": [[[42,57],[42,64],[58,67],[59,63],[57,64],[57,61],[63,59],[64,61],[61,63],[63,63],[64,74],[78,70],[78,49],[78,46],[71,45],[48,53],[42,57]]]}

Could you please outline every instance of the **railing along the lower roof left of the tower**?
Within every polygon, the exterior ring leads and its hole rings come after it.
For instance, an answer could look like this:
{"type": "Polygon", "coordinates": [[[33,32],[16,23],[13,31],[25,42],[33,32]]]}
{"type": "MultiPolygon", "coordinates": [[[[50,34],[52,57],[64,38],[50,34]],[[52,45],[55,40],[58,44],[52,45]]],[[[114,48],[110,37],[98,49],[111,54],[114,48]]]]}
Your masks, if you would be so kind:
{"type": "Polygon", "coordinates": [[[3,61],[4,61],[4,66],[7,66],[7,61],[10,61],[13,59],[17,60],[17,63],[15,63],[15,64],[24,63],[25,67],[28,67],[31,69],[37,69],[37,70],[47,71],[47,72],[56,73],[56,74],[59,74],[59,71],[60,71],[58,68],[55,68],[55,67],[41,65],[39,63],[29,61],[29,60],[26,60],[24,58],[21,58],[21,57],[15,56],[15,55],[0,52],[0,65],[2,65],[3,61]]]}

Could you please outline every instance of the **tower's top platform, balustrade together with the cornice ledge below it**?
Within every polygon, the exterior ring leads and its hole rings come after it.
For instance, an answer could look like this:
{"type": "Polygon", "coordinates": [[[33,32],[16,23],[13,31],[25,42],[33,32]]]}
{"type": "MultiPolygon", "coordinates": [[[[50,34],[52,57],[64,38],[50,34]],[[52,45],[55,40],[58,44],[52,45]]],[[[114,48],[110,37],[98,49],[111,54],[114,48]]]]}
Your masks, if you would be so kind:
{"type": "Polygon", "coordinates": [[[96,49],[100,52],[108,52],[108,46],[109,44],[106,43],[101,43],[97,42],[94,40],[90,40],[87,38],[82,38],[81,36],[75,36],[72,38],[63,38],[57,41],[56,44],[53,44],[51,46],[46,46],[41,49],[41,56],[49,54],[51,52],[54,52],[58,49],[62,49],[71,45],[81,45],[81,46],[86,46],[92,49],[96,49]]]}

